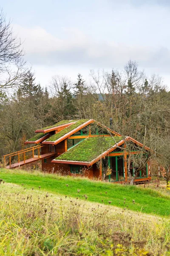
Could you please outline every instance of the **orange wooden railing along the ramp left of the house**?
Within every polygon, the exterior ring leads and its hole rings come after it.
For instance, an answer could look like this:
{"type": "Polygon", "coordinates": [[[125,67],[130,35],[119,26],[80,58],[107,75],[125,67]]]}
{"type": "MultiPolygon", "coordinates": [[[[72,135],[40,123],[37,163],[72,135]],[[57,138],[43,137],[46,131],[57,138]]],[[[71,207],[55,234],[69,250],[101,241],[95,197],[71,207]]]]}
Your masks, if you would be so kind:
{"type": "Polygon", "coordinates": [[[32,158],[34,158],[34,151],[38,150],[38,158],[40,159],[40,148],[42,148],[44,145],[37,145],[31,148],[26,148],[20,151],[16,151],[10,154],[4,155],[4,164],[6,164],[6,157],[9,157],[9,166],[11,167],[11,157],[18,156],[18,163],[20,163],[20,155],[23,154],[23,161],[25,164],[26,161],[26,153],[32,151],[32,158]]]}

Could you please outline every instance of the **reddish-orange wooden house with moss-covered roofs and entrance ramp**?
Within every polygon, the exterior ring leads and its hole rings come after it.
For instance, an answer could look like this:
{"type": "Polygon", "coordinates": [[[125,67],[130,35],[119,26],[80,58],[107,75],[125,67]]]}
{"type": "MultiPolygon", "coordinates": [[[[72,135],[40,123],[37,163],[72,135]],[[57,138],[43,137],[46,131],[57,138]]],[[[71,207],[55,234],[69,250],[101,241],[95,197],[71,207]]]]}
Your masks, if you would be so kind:
{"type": "MultiPolygon", "coordinates": [[[[7,168],[42,161],[43,172],[60,172],[63,175],[78,175],[89,178],[103,179],[111,182],[126,182],[127,159],[125,143],[129,141],[136,148],[142,143],[131,137],[123,138],[94,119],[62,120],[56,124],[38,129],[34,137],[26,144],[35,144],[31,148],[4,156],[9,161],[7,168]],[[29,157],[26,155],[29,155],[29,157]],[[31,154],[31,156],[30,156],[31,154]],[[11,159],[17,156],[17,162],[11,159]]],[[[149,148],[144,147],[149,154],[149,148]]],[[[130,154],[138,154],[138,150],[130,154]]],[[[132,175],[135,166],[131,165],[132,175]]],[[[150,180],[150,165],[144,166],[136,182],[150,180]]]]}

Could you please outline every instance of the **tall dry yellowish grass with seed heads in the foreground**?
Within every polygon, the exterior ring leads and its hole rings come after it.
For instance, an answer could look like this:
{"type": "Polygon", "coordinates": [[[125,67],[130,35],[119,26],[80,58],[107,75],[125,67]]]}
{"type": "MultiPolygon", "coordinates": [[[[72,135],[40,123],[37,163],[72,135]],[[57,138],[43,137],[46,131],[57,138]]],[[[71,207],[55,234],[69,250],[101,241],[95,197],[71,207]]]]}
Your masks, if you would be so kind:
{"type": "Polygon", "coordinates": [[[82,201],[79,194],[1,182],[0,255],[169,255],[169,219],[132,212],[126,203],[120,209],[82,201]]]}

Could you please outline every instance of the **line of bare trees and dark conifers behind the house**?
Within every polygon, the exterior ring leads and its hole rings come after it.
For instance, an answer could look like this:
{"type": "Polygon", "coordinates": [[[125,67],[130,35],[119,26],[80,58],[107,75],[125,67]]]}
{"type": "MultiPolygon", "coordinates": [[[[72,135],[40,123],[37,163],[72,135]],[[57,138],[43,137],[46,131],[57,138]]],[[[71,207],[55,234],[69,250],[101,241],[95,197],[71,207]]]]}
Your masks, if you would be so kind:
{"type": "Polygon", "coordinates": [[[107,126],[112,118],[113,130],[142,142],[145,139],[151,146],[154,140],[161,143],[170,136],[170,92],[160,77],[147,78],[133,61],[122,71],[91,71],[89,83],[80,74],[76,82],[54,76],[45,89],[28,71],[14,93],[1,102],[1,156],[20,150],[36,128],[81,118],[107,126]]]}

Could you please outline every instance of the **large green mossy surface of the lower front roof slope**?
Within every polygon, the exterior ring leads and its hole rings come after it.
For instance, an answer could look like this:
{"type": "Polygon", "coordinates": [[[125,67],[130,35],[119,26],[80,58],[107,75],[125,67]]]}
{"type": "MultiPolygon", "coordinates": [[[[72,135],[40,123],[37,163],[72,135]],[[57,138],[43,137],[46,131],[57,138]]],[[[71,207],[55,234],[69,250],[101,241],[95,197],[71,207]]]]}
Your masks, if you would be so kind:
{"type": "Polygon", "coordinates": [[[122,137],[89,137],[55,159],[91,162],[121,140],[122,137]]]}

